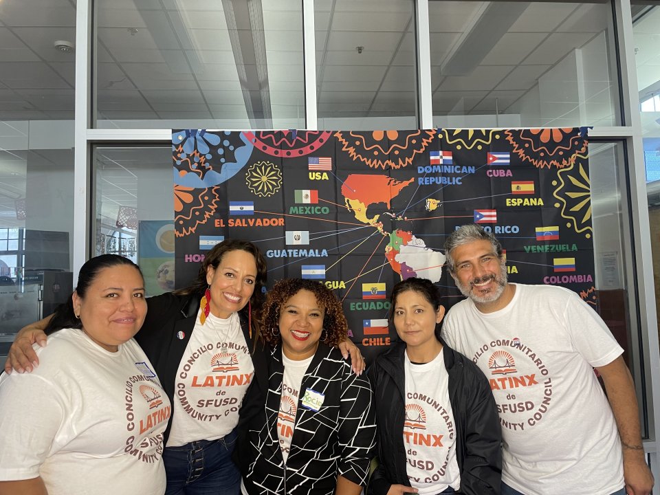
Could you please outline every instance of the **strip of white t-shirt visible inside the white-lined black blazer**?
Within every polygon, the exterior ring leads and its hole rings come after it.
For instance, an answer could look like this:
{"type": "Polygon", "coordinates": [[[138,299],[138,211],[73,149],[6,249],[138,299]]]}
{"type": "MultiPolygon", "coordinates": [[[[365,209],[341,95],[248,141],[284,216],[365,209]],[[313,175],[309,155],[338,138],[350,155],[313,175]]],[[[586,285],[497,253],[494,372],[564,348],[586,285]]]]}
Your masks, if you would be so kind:
{"type": "Polygon", "coordinates": [[[284,364],[284,375],[282,380],[282,395],[280,399],[280,412],[277,414],[277,436],[280,440],[280,448],[284,462],[287,462],[291,439],[294,436],[296,425],[296,414],[298,412],[298,401],[300,398],[300,386],[303,384],[305,371],[314,355],[302,361],[294,361],[282,353],[284,364]]]}

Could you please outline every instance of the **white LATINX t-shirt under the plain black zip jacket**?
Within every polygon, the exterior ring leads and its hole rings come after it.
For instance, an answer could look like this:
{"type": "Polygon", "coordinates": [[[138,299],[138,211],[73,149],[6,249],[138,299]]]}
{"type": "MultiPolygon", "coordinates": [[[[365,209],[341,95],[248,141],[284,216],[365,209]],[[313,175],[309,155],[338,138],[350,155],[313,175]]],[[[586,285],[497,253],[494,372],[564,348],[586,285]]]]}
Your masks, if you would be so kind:
{"type": "Polygon", "coordinates": [[[456,491],[461,473],[456,462],[456,429],[449,400],[449,375],[442,351],[431,362],[412,364],[406,357],[406,472],[420,494],[456,491]]]}

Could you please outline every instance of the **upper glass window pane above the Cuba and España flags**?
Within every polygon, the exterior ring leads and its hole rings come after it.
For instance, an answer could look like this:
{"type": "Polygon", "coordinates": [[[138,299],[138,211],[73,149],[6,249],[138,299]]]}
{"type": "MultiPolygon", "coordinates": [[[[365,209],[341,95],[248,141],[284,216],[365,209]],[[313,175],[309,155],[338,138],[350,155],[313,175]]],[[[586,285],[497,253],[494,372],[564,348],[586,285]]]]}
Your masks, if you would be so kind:
{"type": "Polygon", "coordinates": [[[429,2],[434,125],[621,122],[612,5],[429,2]]]}

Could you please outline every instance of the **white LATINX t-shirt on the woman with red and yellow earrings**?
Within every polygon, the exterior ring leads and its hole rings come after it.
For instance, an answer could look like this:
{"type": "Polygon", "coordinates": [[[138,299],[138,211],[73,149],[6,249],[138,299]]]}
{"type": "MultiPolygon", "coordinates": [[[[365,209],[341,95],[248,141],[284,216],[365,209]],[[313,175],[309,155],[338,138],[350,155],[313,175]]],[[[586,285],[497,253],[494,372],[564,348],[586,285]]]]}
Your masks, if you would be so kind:
{"type": "MultiPolygon", "coordinates": [[[[201,311],[201,309],[200,309],[201,311]]],[[[239,423],[239,408],[254,375],[239,315],[222,319],[199,314],[175,383],[168,447],[215,440],[239,423]]]]}

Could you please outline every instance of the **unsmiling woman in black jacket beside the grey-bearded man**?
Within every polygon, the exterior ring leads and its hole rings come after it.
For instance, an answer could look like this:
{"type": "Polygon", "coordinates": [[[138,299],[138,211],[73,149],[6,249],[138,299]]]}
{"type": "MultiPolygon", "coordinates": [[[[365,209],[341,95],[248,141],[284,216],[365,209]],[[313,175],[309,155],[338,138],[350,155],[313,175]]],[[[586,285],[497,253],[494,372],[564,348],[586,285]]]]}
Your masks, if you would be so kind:
{"type": "Polygon", "coordinates": [[[369,369],[380,465],[369,493],[500,493],[501,432],[481,371],[440,338],[445,309],[423,278],[395,285],[393,344],[369,369]]]}

